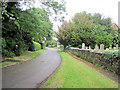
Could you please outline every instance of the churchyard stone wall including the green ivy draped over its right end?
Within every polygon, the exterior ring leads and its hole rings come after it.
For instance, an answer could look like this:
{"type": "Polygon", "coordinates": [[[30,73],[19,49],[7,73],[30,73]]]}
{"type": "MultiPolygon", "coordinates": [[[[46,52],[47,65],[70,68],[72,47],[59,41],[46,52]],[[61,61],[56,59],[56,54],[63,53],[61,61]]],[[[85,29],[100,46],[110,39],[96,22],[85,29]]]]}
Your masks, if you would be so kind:
{"type": "Polygon", "coordinates": [[[88,61],[94,65],[100,66],[103,69],[114,72],[120,75],[118,72],[118,66],[120,62],[120,52],[118,51],[108,51],[104,53],[88,52],[85,50],[69,49],[68,52],[88,61]]]}

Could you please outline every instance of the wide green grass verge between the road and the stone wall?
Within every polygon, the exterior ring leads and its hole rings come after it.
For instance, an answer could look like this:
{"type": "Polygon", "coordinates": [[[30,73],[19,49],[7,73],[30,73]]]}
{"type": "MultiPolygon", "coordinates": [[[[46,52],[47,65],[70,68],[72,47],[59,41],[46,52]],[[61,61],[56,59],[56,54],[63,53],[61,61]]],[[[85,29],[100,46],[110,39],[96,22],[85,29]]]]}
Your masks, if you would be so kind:
{"type": "Polygon", "coordinates": [[[91,67],[59,51],[62,62],[43,88],[118,88],[118,84],[91,67]]]}

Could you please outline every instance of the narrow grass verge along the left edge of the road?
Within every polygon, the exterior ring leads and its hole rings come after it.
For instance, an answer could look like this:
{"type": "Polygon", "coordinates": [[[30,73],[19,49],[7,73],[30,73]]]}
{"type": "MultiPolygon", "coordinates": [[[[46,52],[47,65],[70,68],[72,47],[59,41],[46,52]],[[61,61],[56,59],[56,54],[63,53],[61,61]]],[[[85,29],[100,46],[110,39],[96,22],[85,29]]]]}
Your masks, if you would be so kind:
{"type": "MultiPolygon", "coordinates": [[[[37,55],[39,55],[43,50],[38,50],[38,51],[25,51],[21,56],[16,56],[13,58],[9,58],[12,60],[22,60],[22,61],[26,61],[29,59],[33,59],[35,58],[37,55]]],[[[7,58],[6,58],[7,59],[7,58]]],[[[3,62],[0,63],[0,66],[5,66],[5,65],[9,65],[9,64],[18,64],[19,62],[3,62]]]]}

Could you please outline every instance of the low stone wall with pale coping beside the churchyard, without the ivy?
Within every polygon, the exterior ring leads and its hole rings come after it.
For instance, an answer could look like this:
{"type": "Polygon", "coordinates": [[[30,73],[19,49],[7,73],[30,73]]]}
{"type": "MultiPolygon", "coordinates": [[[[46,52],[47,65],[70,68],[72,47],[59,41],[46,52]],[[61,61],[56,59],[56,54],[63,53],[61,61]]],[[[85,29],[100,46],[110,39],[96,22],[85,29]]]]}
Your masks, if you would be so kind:
{"type": "Polygon", "coordinates": [[[114,60],[107,60],[105,58],[105,54],[102,52],[92,52],[91,50],[82,50],[78,48],[71,48],[67,51],[71,52],[72,54],[94,64],[103,67],[104,69],[107,69],[109,71],[115,72],[116,74],[120,75],[118,73],[118,64],[120,61],[119,57],[114,58],[114,60]]]}

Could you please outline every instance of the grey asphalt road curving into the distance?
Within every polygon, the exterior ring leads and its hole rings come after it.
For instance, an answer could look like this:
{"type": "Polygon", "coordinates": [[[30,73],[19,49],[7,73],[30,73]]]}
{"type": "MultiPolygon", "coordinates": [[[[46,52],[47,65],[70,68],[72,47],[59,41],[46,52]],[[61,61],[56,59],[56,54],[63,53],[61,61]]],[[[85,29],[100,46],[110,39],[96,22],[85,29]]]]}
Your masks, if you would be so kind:
{"type": "Polygon", "coordinates": [[[32,61],[2,70],[2,88],[36,88],[59,66],[57,49],[47,49],[32,61]]]}

